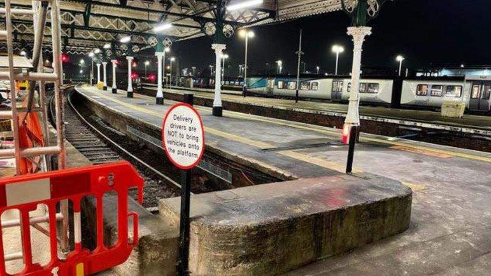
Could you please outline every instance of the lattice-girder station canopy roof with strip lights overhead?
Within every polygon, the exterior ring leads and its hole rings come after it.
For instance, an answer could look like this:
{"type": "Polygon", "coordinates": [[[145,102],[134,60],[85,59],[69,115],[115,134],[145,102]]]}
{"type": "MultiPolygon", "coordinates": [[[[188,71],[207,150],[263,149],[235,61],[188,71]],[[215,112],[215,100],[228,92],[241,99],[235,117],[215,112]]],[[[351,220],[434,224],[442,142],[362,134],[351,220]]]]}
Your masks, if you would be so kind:
{"type": "MultiPolygon", "coordinates": [[[[230,0],[228,5],[240,1],[230,0]]],[[[31,8],[31,0],[12,0],[11,3],[13,8],[31,8]]],[[[143,49],[155,43],[153,27],[163,23],[171,23],[172,28],[159,34],[172,42],[210,35],[216,30],[218,6],[215,0],[61,0],[62,46],[65,52],[84,54],[131,36],[132,43],[143,49]]],[[[341,0],[264,0],[261,5],[247,9],[224,10],[223,31],[226,36],[232,36],[240,27],[341,9],[341,0]]],[[[0,28],[5,30],[5,21],[1,24],[0,28]]],[[[13,24],[16,49],[27,49],[34,39],[32,16],[14,15],[13,24]]],[[[50,32],[48,18],[47,39],[50,32]]],[[[5,45],[0,45],[0,51],[5,49],[5,45]]]]}

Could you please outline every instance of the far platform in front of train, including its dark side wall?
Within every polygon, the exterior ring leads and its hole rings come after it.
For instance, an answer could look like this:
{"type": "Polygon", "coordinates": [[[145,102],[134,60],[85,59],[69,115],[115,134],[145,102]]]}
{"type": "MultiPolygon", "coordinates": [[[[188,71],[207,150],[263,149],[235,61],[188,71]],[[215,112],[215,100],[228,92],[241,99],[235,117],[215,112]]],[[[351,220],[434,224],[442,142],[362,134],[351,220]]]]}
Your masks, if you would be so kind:
{"type": "MultiPolygon", "coordinates": [[[[156,87],[143,85],[146,95],[154,96],[156,87]]],[[[178,100],[184,93],[195,95],[197,104],[211,107],[213,91],[204,88],[164,89],[165,98],[178,100]]],[[[223,90],[224,110],[287,119],[321,126],[342,128],[348,105],[316,101],[248,96],[240,91],[223,90]]],[[[463,118],[441,116],[428,110],[391,109],[360,106],[361,131],[393,137],[416,137],[430,143],[491,151],[491,117],[464,115],[463,118]]]]}

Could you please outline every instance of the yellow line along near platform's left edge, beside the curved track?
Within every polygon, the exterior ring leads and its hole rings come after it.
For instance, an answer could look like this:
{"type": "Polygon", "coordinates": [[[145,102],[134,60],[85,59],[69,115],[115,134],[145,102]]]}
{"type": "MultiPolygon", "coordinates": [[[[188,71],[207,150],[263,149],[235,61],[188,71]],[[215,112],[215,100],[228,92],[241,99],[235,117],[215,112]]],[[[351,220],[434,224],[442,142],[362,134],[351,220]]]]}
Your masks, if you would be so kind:
{"type": "MultiPolygon", "coordinates": [[[[158,118],[163,118],[163,116],[164,116],[163,114],[160,114],[160,113],[157,113],[157,112],[153,112],[153,111],[144,109],[142,107],[134,106],[134,105],[131,105],[131,104],[122,102],[120,100],[114,99],[112,97],[108,97],[108,96],[100,95],[100,94],[98,94],[98,96],[101,97],[101,98],[104,98],[104,99],[113,101],[115,103],[118,103],[120,105],[123,105],[125,107],[128,107],[130,109],[133,109],[133,110],[136,110],[136,111],[140,111],[142,113],[149,114],[149,115],[152,115],[152,116],[155,116],[155,117],[158,117],[158,118]]],[[[238,135],[234,135],[234,134],[230,134],[230,133],[227,133],[227,132],[223,132],[223,131],[220,131],[220,130],[217,130],[217,129],[213,129],[213,128],[210,128],[210,127],[207,127],[207,126],[205,126],[204,128],[205,128],[205,132],[206,133],[209,133],[209,134],[212,134],[212,135],[216,135],[216,136],[220,136],[220,137],[226,138],[228,140],[239,142],[239,143],[242,143],[242,144],[254,146],[254,147],[257,147],[257,148],[260,148],[260,149],[267,149],[267,148],[273,148],[273,147],[275,147],[274,145],[271,145],[271,144],[266,143],[266,142],[261,142],[261,141],[256,141],[256,140],[244,138],[244,137],[241,137],[241,136],[238,136],[238,135]]],[[[310,164],[318,165],[320,167],[332,169],[332,170],[335,170],[335,171],[339,171],[339,172],[343,172],[343,173],[346,171],[346,168],[343,165],[338,164],[336,162],[327,161],[327,160],[323,160],[323,159],[320,159],[320,158],[312,157],[312,156],[309,156],[309,155],[306,155],[306,154],[295,152],[293,150],[276,151],[276,153],[278,153],[280,155],[287,156],[287,157],[291,157],[293,159],[301,160],[301,161],[304,161],[304,162],[307,162],[307,163],[310,163],[310,164]]],[[[362,170],[355,168],[355,169],[353,169],[353,172],[362,172],[362,170]]]]}

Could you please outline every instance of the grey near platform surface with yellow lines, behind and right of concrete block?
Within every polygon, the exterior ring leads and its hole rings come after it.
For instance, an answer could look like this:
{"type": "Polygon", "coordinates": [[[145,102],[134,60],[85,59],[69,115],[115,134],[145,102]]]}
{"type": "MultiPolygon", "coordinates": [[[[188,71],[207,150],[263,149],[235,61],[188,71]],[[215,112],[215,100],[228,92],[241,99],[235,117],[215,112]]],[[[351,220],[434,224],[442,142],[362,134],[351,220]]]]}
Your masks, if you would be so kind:
{"type": "MultiPolygon", "coordinates": [[[[174,104],[166,100],[165,106],[156,106],[153,98],[137,94],[127,99],[122,90],[117,95],[92,87],[78,90],[158,128],[174,104]]],[[[337,175],[344,170],[347,148],[319,145],[339,140],[339,130],[228,111],[216,118],[211,109],[197,108],[203,116],[207,144],[256,158],[299,178],[337,175]]],[[[489,259],[491,252],[491,154],[363,133],[354,166],[358,172],[399,180],[413,189],[410,229],[313,264],[299,274],[364,271],[365,275],[379,275],[378,271],[386,269],[387,274],[443,275],[456,265],[469,267],[469,271],[483,268],[485,261],[480,260],[489,259]]]]}

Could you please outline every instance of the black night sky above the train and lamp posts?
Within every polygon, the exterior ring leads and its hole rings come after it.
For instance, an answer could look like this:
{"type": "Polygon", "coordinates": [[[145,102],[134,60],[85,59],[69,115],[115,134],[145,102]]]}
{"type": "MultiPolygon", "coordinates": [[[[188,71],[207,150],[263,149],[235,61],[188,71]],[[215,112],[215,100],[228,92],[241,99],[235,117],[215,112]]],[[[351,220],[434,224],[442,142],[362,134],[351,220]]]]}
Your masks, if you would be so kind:
{"type": "MultiPolygon", "coordinates": [[[[397,54],[406,58],[404,67],[433,64],[489,64],[489,0],[396,0],[382,7],[380,15],[369,24],[372,35],[364,44],[364,66],[394,67],[397,54]]],[[[286,73],[296,72],[295,51],[299,29],[303,29],[303,51],[307,70],[334,72],[333,44],[345,47],[340,57],[340,73],[351,70],[352,41],[346,34],[350,19],[343,12],[328,13],[287,23],[255,27],[256,36],[249,42],[249,68],[252,73],[264,71],[266,63],[275,66],[283,60],[286,73]]],[[[172,54],[182,58],[181,65],[190,68],[214,64],[212,40],[202,37],[177,42],[172,54]]],[[[238,74],[243,63],[244,41],[237,35],[226,41],[230,55],[227,75],[238,74]]],[[[275,67],[273,67],[275,68],[275,67]]]]}

